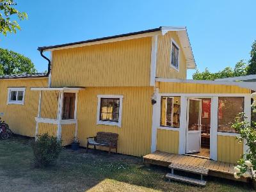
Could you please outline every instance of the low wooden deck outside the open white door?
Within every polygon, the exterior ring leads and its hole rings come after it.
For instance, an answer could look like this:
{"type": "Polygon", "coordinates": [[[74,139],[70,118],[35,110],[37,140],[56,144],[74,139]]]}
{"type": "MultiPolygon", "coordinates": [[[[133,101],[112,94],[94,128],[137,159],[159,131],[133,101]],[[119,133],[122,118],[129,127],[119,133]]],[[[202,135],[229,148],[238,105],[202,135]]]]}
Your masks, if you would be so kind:
{"type": "Polygon", "coordinates": [[[241,177],[240,179],[234,178],[235,164],[233,163],[223,163],[220,161],[213,161],[211,159],[205,159],[201,157],[170,154],[167,152],[161,152],[159,150],[152,154],[143,156],[143,161],[145,164],[156,164],[166,167],[172,163],[188,164],[191,166],[198,166],[200,168],[209,169],[209,175],[211,176],[248,182],[248,179],[244,177],[241,177]]]}

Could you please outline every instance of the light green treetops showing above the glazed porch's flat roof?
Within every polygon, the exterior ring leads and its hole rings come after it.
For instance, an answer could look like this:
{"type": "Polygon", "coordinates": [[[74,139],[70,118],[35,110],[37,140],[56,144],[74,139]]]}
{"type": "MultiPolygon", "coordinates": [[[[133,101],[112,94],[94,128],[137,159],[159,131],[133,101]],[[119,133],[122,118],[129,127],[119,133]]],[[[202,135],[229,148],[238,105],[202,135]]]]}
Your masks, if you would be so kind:
{"type": "Polygon", "coordinates": [[[246,76],[248,70],[248,65],[244,62],[244,60],[238,61],[234,69],[232,67],[226,67],[219,72],[212,73],[205,68],[204,72],[199,72],[196,70],[195,74],[193,74],[193,79],[195,80],[214,80],[221,79],[226,77],[237,77],[237,76],[246,76]]]}

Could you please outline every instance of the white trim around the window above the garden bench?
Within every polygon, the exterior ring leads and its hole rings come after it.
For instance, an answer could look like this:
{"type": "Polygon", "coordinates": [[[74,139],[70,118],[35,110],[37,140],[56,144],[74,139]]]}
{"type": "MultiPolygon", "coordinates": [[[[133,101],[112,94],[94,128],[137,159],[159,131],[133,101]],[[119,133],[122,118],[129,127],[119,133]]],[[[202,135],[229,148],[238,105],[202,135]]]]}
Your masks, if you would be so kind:
{"type": "Polygon", "coordinates": [[[113,125],[121,127],[122,122],[122,108],[123,108],[123,98],[124,95],[97,95],[98,97],[98,106],[97,106],[97,125],[113,125]],[[102,98],[113,98],[113,99],[119,99],[119,118],[118,122],[111,122],[111,121],[102,121],[100,120],[100,99],[102,98]]]}

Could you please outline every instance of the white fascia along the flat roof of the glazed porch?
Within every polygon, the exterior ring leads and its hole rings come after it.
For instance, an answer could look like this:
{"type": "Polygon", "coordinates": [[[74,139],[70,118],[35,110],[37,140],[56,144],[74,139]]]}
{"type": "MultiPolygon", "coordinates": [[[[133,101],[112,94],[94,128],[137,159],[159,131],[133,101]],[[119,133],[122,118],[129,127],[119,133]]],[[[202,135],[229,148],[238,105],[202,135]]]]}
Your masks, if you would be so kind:
{"type": "Polygon", "coordinates": [[[207,81],[207,80],[193,80],[193,79],[164,79],[156,78],[159,82],[172,82],[172,83],[198,83],[198,84],[223,84],[223,85],[236,85],[241,88],[248,88],[256,90],[255,82],[236,82],[236,81],[207,81]]]}

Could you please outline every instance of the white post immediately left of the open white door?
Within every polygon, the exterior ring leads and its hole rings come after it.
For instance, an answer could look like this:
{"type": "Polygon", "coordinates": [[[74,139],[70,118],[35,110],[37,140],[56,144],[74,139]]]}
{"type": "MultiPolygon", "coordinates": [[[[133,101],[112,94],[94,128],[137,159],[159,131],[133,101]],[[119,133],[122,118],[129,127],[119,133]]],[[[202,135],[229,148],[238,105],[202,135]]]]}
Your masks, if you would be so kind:
{"type": "Polygon", "coordinates": [[[180,97],[179,154],[185,154],[187,129],[187,97],[180,97]]]}

